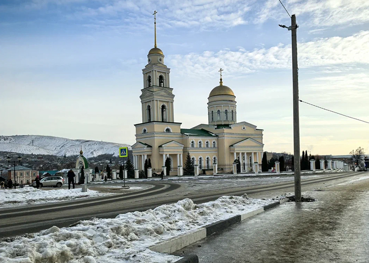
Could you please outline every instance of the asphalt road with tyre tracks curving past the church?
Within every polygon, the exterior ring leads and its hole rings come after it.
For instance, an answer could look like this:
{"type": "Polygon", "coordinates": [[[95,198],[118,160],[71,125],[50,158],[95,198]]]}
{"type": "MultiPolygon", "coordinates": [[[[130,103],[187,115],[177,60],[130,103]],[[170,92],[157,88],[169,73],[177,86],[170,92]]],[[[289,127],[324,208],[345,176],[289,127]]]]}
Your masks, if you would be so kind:
{"type": "MultiPolygon", "coordinates": [[[[303,186],[333,182],[342,178],[354,176],[353,173],[330,174],[323,177],[308,178],[302,181],[303,186]]],[[[228,179],[233,180],[233,179],[228,179]]],[[[263,180],[260,178],[259,180],[263,180]]],[[[209,181],[210,182],[210,181],[209,181]]],[[[143,182],[151,188],[127,194],[117,194],[84,200],[33,205],[21,208],[3,209],[0,211],[2,227],[0,238],[22,235],[47,229],[53,225],[64,227],[90,219],[91,217],[114,218],[120,213],[144,211],[162,204],[173,203],[183,198],[191,198],[196,203],[215,200],[222,195],[265,196],[270,193],[280,195],[293,191],[293,181],[256,185],[250,187],[236,187],[213,189],[189,194],[183,192],[186,182],[143,182]]],[[[274,195],[275,196],[275,195],[274,195]]]]}

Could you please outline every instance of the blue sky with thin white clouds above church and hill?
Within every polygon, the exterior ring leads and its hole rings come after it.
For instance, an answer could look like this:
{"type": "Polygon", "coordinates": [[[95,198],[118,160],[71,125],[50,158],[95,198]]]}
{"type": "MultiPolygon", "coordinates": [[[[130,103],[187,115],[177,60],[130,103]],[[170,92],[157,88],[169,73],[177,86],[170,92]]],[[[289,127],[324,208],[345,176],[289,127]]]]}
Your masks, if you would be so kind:
{"type": "MultiPolygon", "coordinates": [[[[300,99],[369,121],[369,2],[284,0],[296,14],[300,99]]],[[[171,69],[174,121],[207,123],[223,82],[264,151],[293,153],[291,25],[279,0],[2,0],[0,135],[135,143],[142,69],[171,69]]],[[[369,124],[300,103],[301,150],[369,153],[369,124]]]]}

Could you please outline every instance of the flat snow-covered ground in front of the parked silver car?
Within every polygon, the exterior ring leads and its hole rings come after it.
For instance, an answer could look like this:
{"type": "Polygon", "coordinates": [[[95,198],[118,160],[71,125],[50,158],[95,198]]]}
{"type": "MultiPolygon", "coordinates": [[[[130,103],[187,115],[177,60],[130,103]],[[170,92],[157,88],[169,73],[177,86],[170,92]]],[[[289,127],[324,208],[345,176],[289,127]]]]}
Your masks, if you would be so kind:
{"type": "Polygon", "coordinates": [[[98,191],[87,190],[82,193],[81,188],[42,190],[33,187],[0,190],[0,207],[15,205],[41,204],[60,202],[77,198],[97,197],[107,195],[98,191]]]}

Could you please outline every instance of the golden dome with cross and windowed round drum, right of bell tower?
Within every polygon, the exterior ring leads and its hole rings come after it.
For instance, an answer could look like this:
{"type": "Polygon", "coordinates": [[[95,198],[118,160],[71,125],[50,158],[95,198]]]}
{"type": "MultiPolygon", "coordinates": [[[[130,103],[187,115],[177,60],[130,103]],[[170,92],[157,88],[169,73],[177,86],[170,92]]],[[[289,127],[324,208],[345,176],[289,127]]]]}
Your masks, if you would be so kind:
{"type": "Polygon", "coordinates": [[[223,85],[222,71],[219,70],[219,85],[212,89],[208,98],[208,121],[213,125],[237,122],[236,96],[230,87],[223,85]]]}

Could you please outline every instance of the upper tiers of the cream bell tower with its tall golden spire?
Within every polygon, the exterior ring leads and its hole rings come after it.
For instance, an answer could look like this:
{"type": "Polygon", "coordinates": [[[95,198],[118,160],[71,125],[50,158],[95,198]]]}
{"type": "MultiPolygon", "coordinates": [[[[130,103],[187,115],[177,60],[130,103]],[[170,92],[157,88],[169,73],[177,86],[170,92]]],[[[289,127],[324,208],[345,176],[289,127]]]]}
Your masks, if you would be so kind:
{"type": "Polygon", "coordinates": [[[170,68],[164,64],[164,54],[156,45],[156,14],[154,12],[154,47],[147,55],[147,65],[142,70],[143,89],[140,96],[142,122],[174,122],[174,95],[170,88],[170,68]]]}

